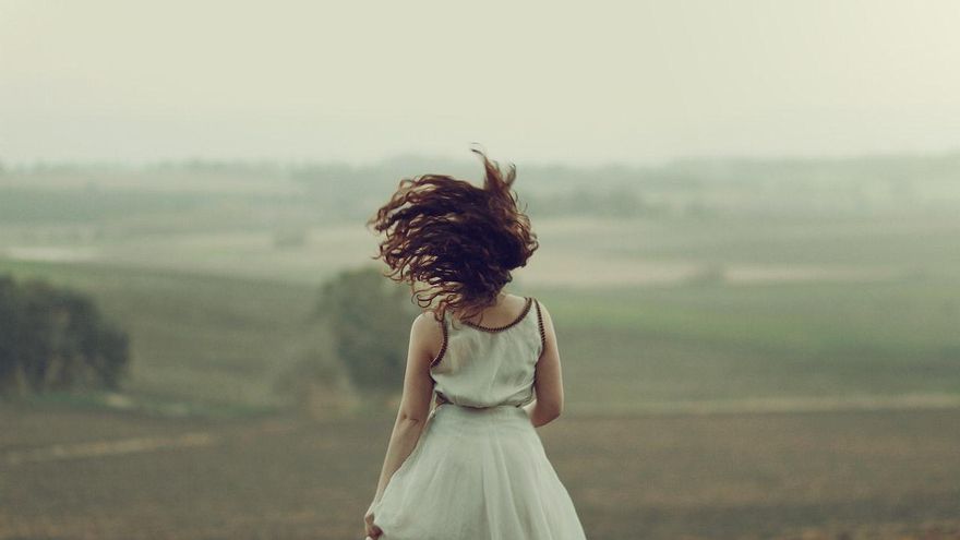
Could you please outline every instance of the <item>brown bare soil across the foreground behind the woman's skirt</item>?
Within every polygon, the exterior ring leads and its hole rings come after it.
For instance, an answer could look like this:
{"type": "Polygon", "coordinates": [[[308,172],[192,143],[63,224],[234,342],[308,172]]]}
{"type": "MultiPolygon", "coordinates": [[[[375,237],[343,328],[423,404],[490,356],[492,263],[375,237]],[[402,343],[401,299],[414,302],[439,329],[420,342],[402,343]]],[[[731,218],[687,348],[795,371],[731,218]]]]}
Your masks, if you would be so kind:
{"type": "MultiPolygon", "coordinates": [[[[360,539],[392,418],[0,407],[2,539],[360,539]]],[[[590,539],[960,538],[960,410],[540,430],[590,539]]]]}

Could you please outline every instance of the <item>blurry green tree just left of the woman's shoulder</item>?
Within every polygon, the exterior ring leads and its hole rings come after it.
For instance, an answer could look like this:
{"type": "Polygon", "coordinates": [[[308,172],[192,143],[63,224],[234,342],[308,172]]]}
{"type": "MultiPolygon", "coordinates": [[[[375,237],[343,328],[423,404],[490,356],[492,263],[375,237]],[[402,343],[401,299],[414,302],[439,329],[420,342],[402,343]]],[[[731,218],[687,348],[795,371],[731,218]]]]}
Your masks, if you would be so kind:
{"type": "Polygon", "coordinates": [[[376,267],[341,272],[321,287],[316,313],[328,325],[353,386],[388,391],[400,385],[410,324],[420,313],[408,286],[376,267]]]}

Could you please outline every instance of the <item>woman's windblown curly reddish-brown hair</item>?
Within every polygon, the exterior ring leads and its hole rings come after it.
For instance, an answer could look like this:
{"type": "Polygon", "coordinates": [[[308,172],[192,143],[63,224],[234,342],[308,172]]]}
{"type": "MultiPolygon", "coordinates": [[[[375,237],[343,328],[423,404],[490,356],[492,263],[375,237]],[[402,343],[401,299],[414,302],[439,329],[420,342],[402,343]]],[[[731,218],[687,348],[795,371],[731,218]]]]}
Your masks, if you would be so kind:
{"type": "Polygon", "coordinates": [[[412,299],[422,308],[440,298],[434,319],[447,310],[463,319],[496,303],[511,271],[527,265],[539,248],[530,219],[518,208],[512,191],[516,167],[506,175],[496,161],[471,148],[483,160],[483,188],[444,175],[400,180],[389,202],[367,221],[386,233],[379,254],[394,281],[409,283],[412,299]],[[422,289],[417,284],[425,284],[422,289]]]}

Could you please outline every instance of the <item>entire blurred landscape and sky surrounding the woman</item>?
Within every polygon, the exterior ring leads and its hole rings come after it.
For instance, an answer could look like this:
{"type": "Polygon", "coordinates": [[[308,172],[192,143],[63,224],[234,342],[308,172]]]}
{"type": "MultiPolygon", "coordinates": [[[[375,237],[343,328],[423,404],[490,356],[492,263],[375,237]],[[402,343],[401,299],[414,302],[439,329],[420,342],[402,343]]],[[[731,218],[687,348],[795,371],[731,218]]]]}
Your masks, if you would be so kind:
{"type": "Polygon", "coordinates": [[[958,25],[0,1],[0,538],[361,538],[418,313],[364,221],[472,142],[589,538],[960,538],[958,25]]]}

